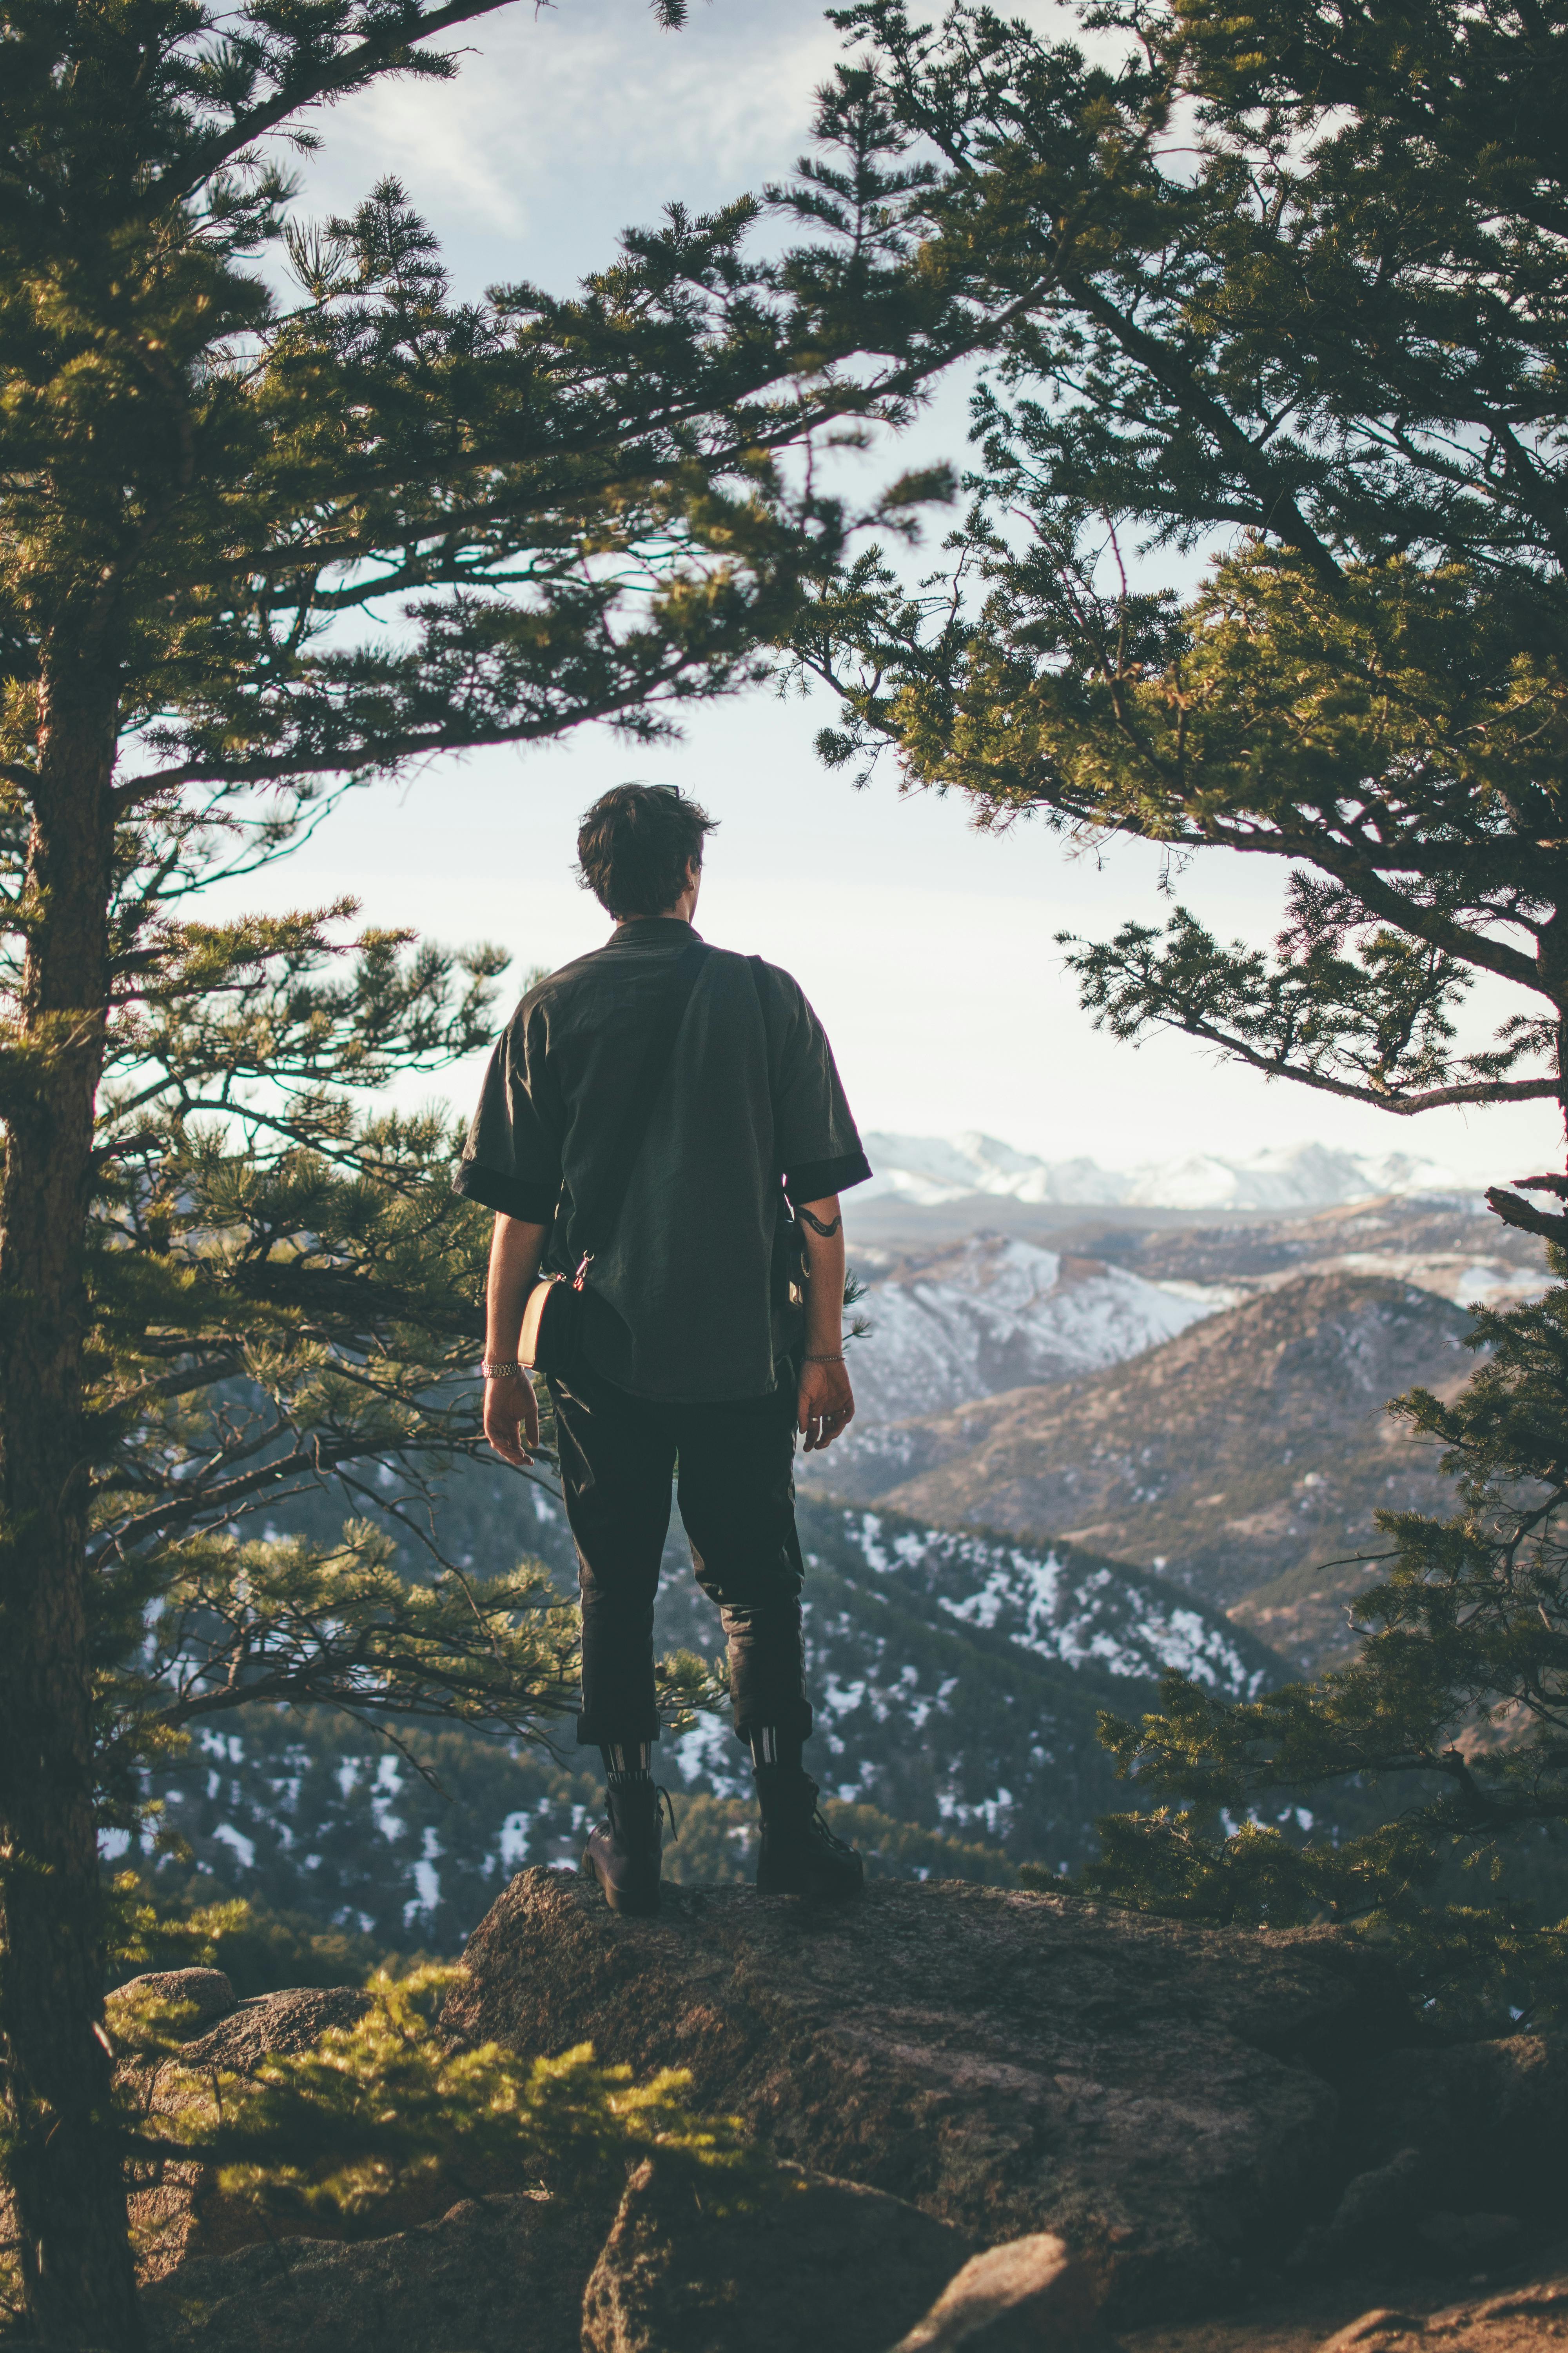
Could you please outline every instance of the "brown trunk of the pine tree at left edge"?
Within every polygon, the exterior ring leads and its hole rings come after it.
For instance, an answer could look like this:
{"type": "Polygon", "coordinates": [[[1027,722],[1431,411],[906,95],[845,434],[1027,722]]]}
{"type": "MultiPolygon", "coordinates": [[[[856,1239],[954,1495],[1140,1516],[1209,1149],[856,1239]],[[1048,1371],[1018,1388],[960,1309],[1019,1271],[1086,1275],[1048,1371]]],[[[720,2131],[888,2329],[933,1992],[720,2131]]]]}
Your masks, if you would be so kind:
{"type": "Polygon", "coordinates": [[[85,1226],[108,1005],[115,680],[45,682],[21,1035],[0,1200],[0,2066],[28,2318],[45,2346],[141,2346],[108,2132],[92,1809],[85,1226]]]}

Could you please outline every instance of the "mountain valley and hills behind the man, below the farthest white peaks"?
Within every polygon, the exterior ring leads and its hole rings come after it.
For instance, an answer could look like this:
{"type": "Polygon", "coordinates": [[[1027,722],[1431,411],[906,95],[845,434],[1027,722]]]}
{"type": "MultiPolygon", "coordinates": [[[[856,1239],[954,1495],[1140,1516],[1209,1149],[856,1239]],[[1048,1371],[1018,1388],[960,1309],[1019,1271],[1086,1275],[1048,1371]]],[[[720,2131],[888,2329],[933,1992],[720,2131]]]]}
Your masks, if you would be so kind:
{"type": "MultiPolygon", "coordinates": [[[[875,1873],[1072,1873],[1128,1802],[1100,1708],[1154,1704],[1166,1671],[1244,1697],[1345,1654],[1373,1511],[1443,1501],[1382,1407],[1458,1386],[1465,1304],[1528,1294],[1540,1257],[1462,1200],[1401,1195],[1157,1214],[959,1191],[849,1212],[872,1325],[851,1348],[858,1419],[797,1459],[811,1769],[875,1873]]],[[[270,1525],[331,1537],[364,1508],[317,1489],[270,1525]]],[[[548,1464],[458,1461],[433,1497],[388,1475],[378,1515],[409,1577],[437,1546],[487,1572],[529,1555],[574,1591],[548,1464]]],[[[656,1638],[722,1652],[677,1518],[656,1638]]],[[[395,1732],[388,1748],[346,1718],[237,1711],[160,1774],[183,1861],[148,1868],[362,1958],[456,1951],[517,1868],[576,1859],[599,1777],[569,1720],[536,1746],[395,1732]]],[[[745,1878],[729,1722],[665,1737],[658,1772],[670,1878],[745,1878]]]]}

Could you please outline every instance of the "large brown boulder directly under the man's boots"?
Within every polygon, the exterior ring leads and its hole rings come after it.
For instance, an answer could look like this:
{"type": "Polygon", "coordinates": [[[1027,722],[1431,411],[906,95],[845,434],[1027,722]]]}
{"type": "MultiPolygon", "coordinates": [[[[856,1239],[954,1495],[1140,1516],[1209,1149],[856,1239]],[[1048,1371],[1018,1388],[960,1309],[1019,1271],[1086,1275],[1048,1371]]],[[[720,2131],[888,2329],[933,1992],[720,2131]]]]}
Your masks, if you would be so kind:
{"type": "Polygon", "coordinates": [[[832,1911],[668,1887],[656,1920],[623,1920],[524,1871],[465,1962],[447,2005],[465,2040],[689,2068],[703,2108],[780,2158],[983,2245],[1105,2249],[1119,2318],[1284,2261],[1354,2169],[1340,2085],[1418,2035],[1340,1934],[959,1882],[882,1880],[832,1911]]]}

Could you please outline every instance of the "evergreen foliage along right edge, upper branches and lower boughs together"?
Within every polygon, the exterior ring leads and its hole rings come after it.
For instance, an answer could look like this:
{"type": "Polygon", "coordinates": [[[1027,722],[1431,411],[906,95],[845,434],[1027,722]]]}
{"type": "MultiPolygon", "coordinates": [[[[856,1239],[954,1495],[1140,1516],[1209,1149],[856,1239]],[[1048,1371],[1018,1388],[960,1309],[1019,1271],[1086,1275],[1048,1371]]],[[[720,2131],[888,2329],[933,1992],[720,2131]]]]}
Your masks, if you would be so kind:
{"type": "MultiPolygon", "coordinates": [[[[820,748],[891,746],[980,824],[1128,833],[1173,871],[1284,861],[1269,953],[1182,906],[1065,941],[1119,1040],[1166,1024],[1401,1115],[1568,1111],[1568,12],[1084,14],[1088,56],[971,5],[839,16],[1004,341],[947,569],[905,588],[865,555],[797,633],[842,696],[820,748]],[[1182,593],[1168,558],[1194,553],[1182,593]],[[1519,1009],[1472,1047],[1479,974],[1519,1009]]],[[[1516,1184],[1488,1200],[1561,1275],[1568,1179],[1516,1184]]],[[[1460,1501],[1380,1515],[1352,1666],[1241,1704],[1173,1680],[1107,1718],[1140,1793],[1180,1802],[1105,1821],[1091,1885],[1356,1920],[1450,2019],[1559,2014],[1566,1313],[1563,1287],[1481,1313],[1465,1395],[1396,1405],[1460,1501]],[[1319,1786],[1380,1819],[1338,1842],[1258,1819],[1319,1786]]]]}

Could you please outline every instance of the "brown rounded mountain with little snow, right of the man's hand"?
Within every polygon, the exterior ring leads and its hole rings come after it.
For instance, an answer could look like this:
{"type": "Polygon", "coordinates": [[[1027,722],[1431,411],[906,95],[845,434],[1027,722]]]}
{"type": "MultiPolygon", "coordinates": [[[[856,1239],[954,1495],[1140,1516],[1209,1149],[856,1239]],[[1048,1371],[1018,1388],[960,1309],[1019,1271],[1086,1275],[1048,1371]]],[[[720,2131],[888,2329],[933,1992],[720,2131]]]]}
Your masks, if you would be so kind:
{"type": "Polygon", "coordinates": [[[1375,1574],[1356,1555],[1387,1551],[1373,1508],[1450,1508],[1436,1449],[1385,1402],[1458,1388],[1467,1332],[1462,1308],[1408,1282],[1298,1275],[1084,1379],[851,1428],[816,1482],[1152,1569],[1316,1668],[1354,1647],[1345,1602],[1375,1574]]]}

